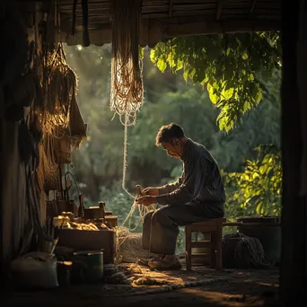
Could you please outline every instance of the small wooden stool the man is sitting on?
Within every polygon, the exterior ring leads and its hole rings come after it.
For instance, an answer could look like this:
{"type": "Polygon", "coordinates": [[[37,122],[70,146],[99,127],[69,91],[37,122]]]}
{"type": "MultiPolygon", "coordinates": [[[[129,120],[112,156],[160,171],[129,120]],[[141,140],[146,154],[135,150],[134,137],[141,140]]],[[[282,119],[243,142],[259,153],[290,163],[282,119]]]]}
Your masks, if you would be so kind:
{"type": "Polygon", "coordinates": [[[186,225],[186,267],[192,269],[192,258],[199,258],[199,255],[192,255],[192,248],[210,247],[211,267],[222,269],[222,232],[225,218],[208,219],[186,225]],[[211,241],[192,241],[192,232],[211,233],[211,241]]]}

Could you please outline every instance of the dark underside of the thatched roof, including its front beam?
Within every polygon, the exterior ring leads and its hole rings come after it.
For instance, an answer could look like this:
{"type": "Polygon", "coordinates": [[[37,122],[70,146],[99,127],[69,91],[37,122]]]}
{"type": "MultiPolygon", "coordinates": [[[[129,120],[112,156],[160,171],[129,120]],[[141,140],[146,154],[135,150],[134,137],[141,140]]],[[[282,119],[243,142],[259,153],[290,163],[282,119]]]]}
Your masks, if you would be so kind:
{"type": "MultiPolygon", "coordinates": [[[[76,7],[77,33],[74,36],[69,35],[74,0],[57,2],[61,31],[65,32],[62,40],[82,44],[81,1],[76,7]]],[[[110,43],[110,0],[88,0],[88,7],[91,43],[110,43]]],[[[141,18],[140,42],[150,46],[182,35],[276,31],[280,29],[281,0],[143,0],[141,18]]]]}

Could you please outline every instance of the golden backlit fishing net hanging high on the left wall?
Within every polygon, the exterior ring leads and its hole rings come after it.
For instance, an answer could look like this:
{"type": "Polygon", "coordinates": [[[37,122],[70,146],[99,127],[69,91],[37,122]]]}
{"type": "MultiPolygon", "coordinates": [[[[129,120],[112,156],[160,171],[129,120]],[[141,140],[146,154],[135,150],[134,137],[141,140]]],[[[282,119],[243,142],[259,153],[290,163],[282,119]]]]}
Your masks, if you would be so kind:
{"type": "Polygon", "coordinates": [[[69,136],[77,147],[86,137],[86,125],[76,103],[77,78],[66,62],[62,44],[47,52],[44,70],[44,133],[56,138],[69,136]]]}

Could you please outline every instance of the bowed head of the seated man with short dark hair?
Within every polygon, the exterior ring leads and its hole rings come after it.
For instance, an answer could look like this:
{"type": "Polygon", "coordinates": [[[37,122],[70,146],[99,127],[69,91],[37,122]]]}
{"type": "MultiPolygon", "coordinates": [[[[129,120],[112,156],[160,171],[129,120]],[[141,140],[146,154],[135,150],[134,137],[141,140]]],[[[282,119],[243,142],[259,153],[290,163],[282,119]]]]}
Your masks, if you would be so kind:
{"type": "Polygon", "coordinates": [[[173,158],[180,159],[187,137],[183,129],[176,124],[162,126],[155,136],[155,145],[162,145],[163,149],[173,158]]]}

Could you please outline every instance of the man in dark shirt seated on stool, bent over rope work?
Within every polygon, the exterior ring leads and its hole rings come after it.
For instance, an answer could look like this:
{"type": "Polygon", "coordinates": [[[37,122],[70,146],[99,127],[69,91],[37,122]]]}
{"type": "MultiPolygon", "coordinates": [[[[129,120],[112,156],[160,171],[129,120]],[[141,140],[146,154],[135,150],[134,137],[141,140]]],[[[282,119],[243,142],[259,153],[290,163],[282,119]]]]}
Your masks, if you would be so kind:
{"type": "Polygon", "coordinates": [[[224,216],[225,192],[219,168],[206,147],[185,136],[175,124],[162,126],[155,144],[173,158],[181,159],[180,178],[160,188],[146,188],[136,203],[150,206],[158,203],[162,208],[145,215],[143,248],[160,255],[148,266],[161,269],[179,269],[175,256],[179,226],[208,218],[224,216]]]}

